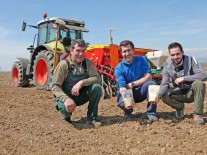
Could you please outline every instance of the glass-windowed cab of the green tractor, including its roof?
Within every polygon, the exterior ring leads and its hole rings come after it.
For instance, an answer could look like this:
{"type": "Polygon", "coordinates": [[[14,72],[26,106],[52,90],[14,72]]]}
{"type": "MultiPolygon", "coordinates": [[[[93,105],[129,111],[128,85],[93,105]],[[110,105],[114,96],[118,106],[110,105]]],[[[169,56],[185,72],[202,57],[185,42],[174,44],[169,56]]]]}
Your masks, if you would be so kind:
{"type": "Polygon", "coordinates": [[[83,39],[83,32],[88,32],[84,26],[84,22],[63,18],[42,20],[38,23],[37,46],[55,41],[57,33],[58,41],[62,42],[65,46],[69,46],[72,40],[83,39]]]}

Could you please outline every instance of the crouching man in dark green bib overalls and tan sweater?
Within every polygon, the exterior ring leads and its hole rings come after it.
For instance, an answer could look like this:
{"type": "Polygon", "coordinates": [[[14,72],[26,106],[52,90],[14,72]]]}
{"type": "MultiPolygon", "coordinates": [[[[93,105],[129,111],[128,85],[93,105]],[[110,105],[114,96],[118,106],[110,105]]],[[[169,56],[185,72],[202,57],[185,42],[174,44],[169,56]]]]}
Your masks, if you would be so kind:
{"type": "Polygon", "coordinates": [[[71,123],[71,115],[76,106],[89,101],[87,123],[101,126],[97,119],[98,104],[102,95],[101,79],[93,62],[85,58],[84,40],[72,41],[70,56],[60,61],[54,71],[52,91],[55,95],[56,108],[63,120],[71,123]]]}

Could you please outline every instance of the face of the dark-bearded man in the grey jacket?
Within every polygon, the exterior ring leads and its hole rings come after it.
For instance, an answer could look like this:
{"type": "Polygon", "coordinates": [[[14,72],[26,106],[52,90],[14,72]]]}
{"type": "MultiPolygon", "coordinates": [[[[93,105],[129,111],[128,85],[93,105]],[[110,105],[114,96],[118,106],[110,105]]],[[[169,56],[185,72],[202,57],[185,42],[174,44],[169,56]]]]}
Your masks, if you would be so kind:
{"type": "Polygon", "coordinates": [[[180,66],[183,59],[183,52],[179,47],[170,49],[171,60],[176,66],[180,66]]]}

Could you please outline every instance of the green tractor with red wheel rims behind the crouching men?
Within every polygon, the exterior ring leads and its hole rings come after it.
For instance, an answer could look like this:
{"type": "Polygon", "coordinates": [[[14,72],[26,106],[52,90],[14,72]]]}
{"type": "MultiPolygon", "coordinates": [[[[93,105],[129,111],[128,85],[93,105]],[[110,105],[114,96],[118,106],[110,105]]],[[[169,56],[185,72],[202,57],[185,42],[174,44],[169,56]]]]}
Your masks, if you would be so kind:
{"type": "Polygon", "coordinates": [[[38,34],[34,37],[33,45],[27,48],[31,53],[30,59],[17,58],[14,62],[12,84],[16,87],[28,87],[29,81],[33,80],[37,89],[51,90],[53,70],[60,60],[69,55],[71,41],[82,39],[83,32],[88,30],[83,21],[47,18],[46,13],[37,26],[27,25],[23,21],[22,31],[25,31],[26,26],[38,29],[38,34]]]}

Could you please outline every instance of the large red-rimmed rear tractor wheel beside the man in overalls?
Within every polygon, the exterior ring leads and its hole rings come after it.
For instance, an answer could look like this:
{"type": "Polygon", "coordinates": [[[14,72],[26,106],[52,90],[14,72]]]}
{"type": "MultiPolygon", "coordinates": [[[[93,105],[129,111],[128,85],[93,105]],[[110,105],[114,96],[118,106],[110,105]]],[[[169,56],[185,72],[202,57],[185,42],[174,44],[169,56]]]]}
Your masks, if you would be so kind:
{"type": "Polygon", "coordinates": [[[53,54],[49,51],[40,51],[33,66],[33,80],[37,89],[50,90],[52,83],[53,54]]]}

